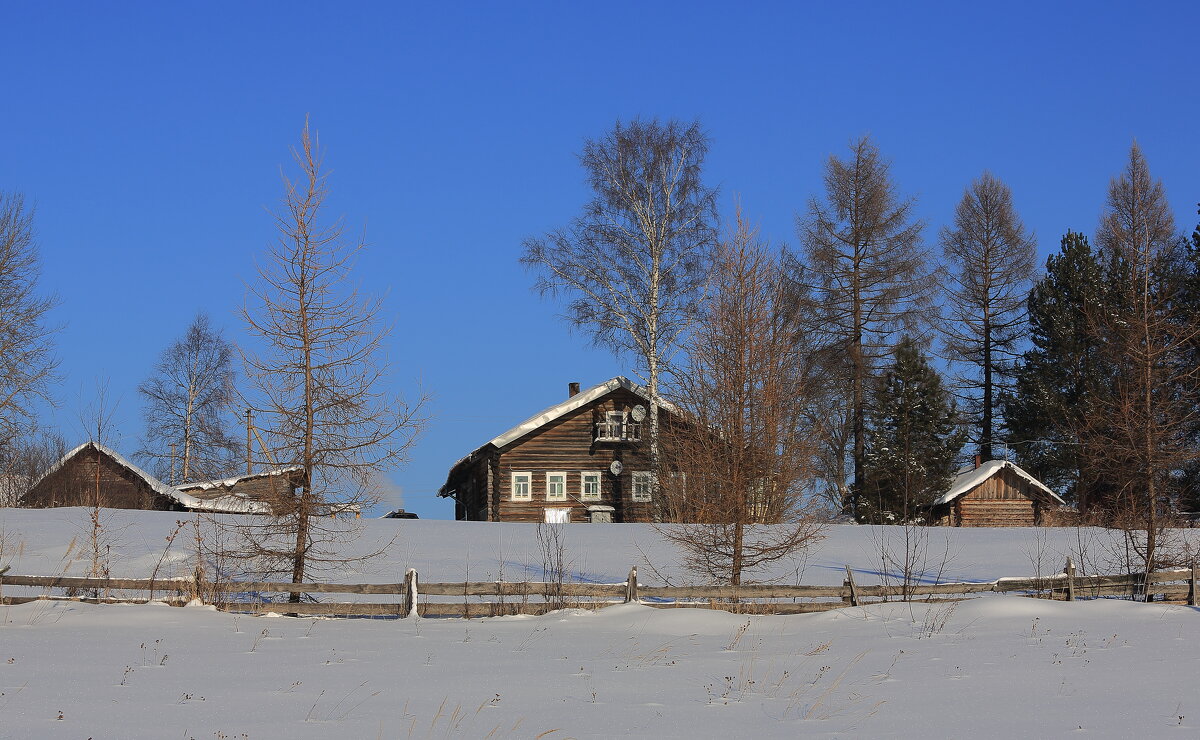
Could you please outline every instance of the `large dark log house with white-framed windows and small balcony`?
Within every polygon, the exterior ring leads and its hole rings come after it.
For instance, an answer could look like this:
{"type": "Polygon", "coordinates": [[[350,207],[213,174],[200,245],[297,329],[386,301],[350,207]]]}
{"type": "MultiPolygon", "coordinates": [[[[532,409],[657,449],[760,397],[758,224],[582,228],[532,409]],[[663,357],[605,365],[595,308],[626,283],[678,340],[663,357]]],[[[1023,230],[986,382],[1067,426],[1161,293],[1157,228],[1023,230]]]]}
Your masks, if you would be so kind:
{"type": "MultiPolygon", "coordinates": [[[[659,422],[674,407],[659,404],[659,422]]],[[[652,522],[649,391],[617,377],[463,457],[438,495],[472,522],[652,522]]]]}

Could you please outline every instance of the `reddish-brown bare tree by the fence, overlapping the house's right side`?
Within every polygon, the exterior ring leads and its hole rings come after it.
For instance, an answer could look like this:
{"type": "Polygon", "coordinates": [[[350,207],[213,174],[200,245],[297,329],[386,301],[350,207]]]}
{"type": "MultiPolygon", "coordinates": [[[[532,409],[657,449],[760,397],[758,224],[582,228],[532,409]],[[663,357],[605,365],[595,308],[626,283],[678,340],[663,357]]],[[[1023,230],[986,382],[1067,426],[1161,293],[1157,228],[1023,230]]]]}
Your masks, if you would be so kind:
{"type": "Polygon", "coordinates": [[[659,531],[689,570],[743,574],[820,539],[806,513],[818,445],[806,411],[824,381],[793,313],[781,260],[738,213],[713,261],[712,296],[673,375],[659,531]]]}

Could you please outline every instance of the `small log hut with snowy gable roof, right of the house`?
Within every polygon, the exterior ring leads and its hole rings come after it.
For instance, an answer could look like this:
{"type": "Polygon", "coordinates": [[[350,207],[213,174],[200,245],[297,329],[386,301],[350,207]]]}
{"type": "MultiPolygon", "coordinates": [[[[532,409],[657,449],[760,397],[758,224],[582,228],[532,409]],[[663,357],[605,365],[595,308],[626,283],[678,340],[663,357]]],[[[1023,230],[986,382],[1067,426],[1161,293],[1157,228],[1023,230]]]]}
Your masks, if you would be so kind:
{"type": "Polygon", "coordinates": [[[932,505],[932,522],[949,527],[1048,524],[1064,505],[1054,491],[1008,461],[989,461],[959,473],[932,505]]]}

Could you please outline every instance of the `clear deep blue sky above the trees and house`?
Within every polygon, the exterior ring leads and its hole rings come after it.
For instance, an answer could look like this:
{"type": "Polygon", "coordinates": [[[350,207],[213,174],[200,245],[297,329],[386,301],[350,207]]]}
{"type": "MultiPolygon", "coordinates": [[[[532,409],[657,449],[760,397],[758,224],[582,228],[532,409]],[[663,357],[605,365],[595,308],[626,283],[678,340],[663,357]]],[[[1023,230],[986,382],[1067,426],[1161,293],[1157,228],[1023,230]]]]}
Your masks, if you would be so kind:
{"type": "Polygon", "coordinates": [[[433,419],[404,505],[455,459],[630,365],[568,330],[517,264],[574,217],[575,158],[617,119],[700,119],[722,210],[794,246],[830,154],[870,133],[936,241],[984,169],[1043,255],[1092,234],[1136,137],[1181,230],[1200,200],[1195,2],[12,2],[0,12],[0,189],[37,205],[68,443],[97,380],[118,447],[136,387],[197,311],[229,338],[312,116],[330,216],[370,243],[396,391],[433,419]]]}

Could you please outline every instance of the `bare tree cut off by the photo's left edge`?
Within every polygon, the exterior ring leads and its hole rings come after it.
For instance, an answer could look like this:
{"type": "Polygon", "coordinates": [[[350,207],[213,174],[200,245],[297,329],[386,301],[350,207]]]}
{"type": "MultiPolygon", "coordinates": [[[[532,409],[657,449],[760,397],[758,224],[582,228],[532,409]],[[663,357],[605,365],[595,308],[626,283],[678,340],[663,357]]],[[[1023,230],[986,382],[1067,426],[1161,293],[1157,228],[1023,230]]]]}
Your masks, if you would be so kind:
{"type": "Polygon", "coordinates": [[[56,329],[47,313],[58,301],[38,294],[40,272],[34,211],[0,191],[0,449],[32,427],[37,402],[50,401],[56,329]]]}

